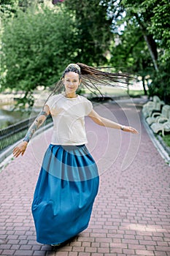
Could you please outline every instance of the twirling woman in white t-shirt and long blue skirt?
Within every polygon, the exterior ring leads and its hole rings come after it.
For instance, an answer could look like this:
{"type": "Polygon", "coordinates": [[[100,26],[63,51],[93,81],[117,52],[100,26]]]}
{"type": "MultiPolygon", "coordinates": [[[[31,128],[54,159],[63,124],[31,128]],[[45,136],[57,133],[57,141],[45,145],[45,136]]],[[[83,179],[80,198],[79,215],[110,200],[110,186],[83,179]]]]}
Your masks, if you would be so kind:
{"type": "Polygon", "coordinates": [[[85,146],[85,116],[101,126],[138,133],[133,127],[125,127],[99,116],[88,99],[76,94],[80,83],[89,88],[95,86],[98,80],[108,84],[112,81],[123,82],[123,79],[127,77],[102,72],[85,64],[69,64],[54,90],[64,85],[65,92],[47,99],[23,142],[14,148],[15,157],[23,155],[36,129],[51,114],[53,137],[42,162],[32,203],[39,243],[56,246],[88,227],[98,192],[98,169],[85,146]]]}

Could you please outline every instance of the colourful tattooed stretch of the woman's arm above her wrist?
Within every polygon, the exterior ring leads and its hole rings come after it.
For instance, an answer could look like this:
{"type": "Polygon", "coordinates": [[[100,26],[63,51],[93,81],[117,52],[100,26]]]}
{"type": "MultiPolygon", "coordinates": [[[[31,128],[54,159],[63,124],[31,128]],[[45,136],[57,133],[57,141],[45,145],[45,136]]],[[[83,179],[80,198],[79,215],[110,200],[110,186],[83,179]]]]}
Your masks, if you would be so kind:
{"type": "Polygon", "coordinates": [[[39,116],[37,116],[34,123],[28,129],[28,132],[26,133],[26,136],[23,139],[24,141],[29,142],[29,140],[31,140],[32,136],[34,135],[34,132],[36,132],[36,130],[39,129],[39,127],[42,125],[45,119],[47,119],[47,116],[48,115],[45,111],[42,111],[41,113],[39,113],[39,116]]]}

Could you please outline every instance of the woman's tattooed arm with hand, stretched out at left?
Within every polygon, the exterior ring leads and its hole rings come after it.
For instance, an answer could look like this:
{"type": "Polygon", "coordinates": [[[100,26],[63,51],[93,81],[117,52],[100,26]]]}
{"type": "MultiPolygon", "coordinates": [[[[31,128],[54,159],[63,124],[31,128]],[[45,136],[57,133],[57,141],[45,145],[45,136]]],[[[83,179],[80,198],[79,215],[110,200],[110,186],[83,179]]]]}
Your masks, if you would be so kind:
{"type": "Polygon", "coordinates": [[[32,136],[34,135],[34,132],[36,132],[36,130],[39,129],[39,127],[45,122],[49,114],[50,108],[48,107],[48,105],[45,105],[42,112],[39,113],[39,116],[36,117],[34,123],[31,124],[31,127],[28,129],[28,132],[26,133],[26,136],[23,139],[23,141],[13,149],[14,157],[18,157],[20,154],[23,156],[23,154],[26,151],[29,140],[31,140],[32,136]]]}

